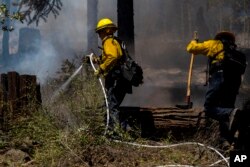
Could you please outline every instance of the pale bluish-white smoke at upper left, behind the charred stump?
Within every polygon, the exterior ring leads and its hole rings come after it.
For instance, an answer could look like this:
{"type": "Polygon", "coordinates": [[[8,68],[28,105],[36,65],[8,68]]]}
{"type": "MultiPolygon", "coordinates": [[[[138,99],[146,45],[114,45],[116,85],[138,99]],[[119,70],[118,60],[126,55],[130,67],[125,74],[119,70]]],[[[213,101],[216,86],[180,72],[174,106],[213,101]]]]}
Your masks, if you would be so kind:
{"type": "MultiPolygon", "coordinates": [[[[72,59],[81,54],[87,45],[86,1],[63,0],[63,7],[57,18],[50,14],[47,21],[40,21],[39,26],[15,22],[15,30],[10,33],[11,63],[1,72],[15,70],[20,74],[36,75],[39,83],[44,84],[53,78],[59,70],[62,60],[72,59]],[[36,45],[38,52],[18,53],[19,30],[24,27],[38,29],[41,42],[36,45]]],[[[33,39],[33,41],[40,39],[33,39]]],[[[1,41],[2,42],[2,41],[1,41]]],[[[25,42],[25,41],[21,41],[25,42]]]]}

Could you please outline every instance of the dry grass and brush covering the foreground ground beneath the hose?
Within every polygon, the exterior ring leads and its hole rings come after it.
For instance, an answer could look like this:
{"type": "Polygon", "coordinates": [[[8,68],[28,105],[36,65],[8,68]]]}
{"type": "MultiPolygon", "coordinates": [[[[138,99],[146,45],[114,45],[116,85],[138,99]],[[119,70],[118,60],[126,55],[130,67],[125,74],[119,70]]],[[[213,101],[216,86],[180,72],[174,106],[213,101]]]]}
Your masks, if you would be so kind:
{"type": "MultiPolygon", "coordinates": [[[[28,153],[30,161],[22,162],[26,166],[207,166],[221,159],[213,151],[197,145],[146,148],[111,141],[103,136],[105,108],[100,106],[104,97],[95,77],[81,73],[52,103],[50,97],[56,91],[56,82],[50,83],[42,89],[42,109],[31,112],[29,117],[20,117],[10,130],[10,141],[0,143],[1,147],[28,153]]],[[[194,141],[212,143],[204,134],[194,136],[197,138],[194,141]]],[[[129,134],[123,140],[159,146],[173,142],[170,138],[155,142],[129,134]]],[[[15,162],[5,163],[11,166],[15,162]]],[[[220,163],[220,166],[226,165],[220,163]]]]}

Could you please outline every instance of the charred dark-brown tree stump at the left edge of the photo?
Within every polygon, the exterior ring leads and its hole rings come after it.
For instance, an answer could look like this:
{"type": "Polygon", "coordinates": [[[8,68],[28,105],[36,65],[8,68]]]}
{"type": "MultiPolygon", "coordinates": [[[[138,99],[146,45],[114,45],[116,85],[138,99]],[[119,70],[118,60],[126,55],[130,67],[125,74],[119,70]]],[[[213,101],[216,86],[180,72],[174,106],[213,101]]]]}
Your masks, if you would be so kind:
{"type": "Polygon", "coordinates": [[[7,131],[21,112],[37,109],[42,100],[36,76],[8,72],[0,78],[0,130],[7,131]]]}

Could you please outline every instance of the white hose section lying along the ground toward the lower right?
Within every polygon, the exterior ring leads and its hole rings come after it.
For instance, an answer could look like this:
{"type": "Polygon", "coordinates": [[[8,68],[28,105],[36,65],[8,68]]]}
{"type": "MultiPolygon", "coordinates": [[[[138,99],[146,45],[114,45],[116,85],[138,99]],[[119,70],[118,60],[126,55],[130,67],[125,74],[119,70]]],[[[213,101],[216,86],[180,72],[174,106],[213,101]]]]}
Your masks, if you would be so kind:
{"type": "Polygon", "coordinates": [[[213,147],[206,146],[204,144],[197,143],[197,142],[185,142],[185,143],[170,144],[170,145],[164,145],[164,146],[153,146],[153,145],[124,142],[124,141],[120,141],[120,140],[113,140],[113,141],[117,142],[117,143],[125,143],[125,144],[129,144],[129,145],[137,146],[137,147],[147,147],[147,148],[171,148],[171,147],[176,147],[176,146],[181,146],[181,145],[199,145],[199,146],[206,147],[206,148],[216,152],[223,159],[223,161],[225,161],[227,163],[227,165],[229,166],[229,162],[227,161],[227,159],[218,150],[216,150],[213,147]]]}

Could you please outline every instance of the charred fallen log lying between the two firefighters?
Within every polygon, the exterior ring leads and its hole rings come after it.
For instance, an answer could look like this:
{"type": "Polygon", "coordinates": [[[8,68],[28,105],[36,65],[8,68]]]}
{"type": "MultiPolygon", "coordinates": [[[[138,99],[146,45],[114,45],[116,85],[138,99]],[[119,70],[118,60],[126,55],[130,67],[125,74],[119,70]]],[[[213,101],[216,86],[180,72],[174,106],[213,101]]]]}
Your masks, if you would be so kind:
{"type": "Polygon", "coordinates": [[[182,139],[206,126],[205,115],[199,109],[120,107],[120,111],[121,120],[136,120],[141,136],[147,138],[168,137],[171,134],[176,139],[182,139]]]}

